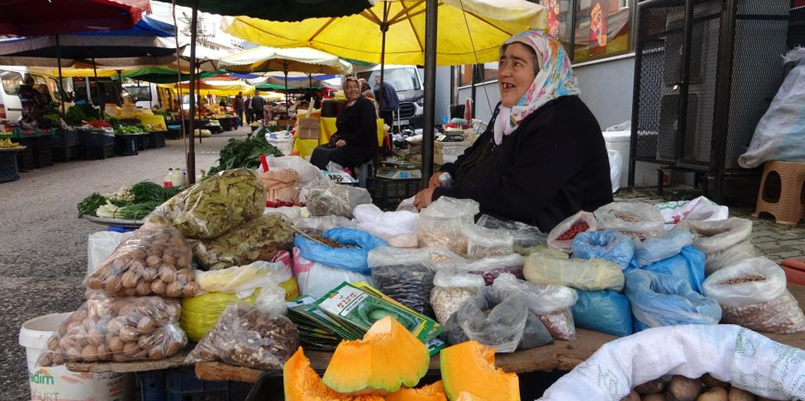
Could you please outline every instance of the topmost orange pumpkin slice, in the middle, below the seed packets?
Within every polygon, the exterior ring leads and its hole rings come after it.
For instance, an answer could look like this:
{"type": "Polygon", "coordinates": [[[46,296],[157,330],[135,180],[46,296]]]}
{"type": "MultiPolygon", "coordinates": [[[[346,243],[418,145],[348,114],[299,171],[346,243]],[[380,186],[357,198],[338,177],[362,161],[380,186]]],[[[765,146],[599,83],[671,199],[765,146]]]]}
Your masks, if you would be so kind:
{"type": "Polygon", "coordinates": [[[386,316],[374,322],[363,340],[341,341],[322,382],[347,395],[389,395],[415,387],[430,361],[422,341],[386,316]]]}

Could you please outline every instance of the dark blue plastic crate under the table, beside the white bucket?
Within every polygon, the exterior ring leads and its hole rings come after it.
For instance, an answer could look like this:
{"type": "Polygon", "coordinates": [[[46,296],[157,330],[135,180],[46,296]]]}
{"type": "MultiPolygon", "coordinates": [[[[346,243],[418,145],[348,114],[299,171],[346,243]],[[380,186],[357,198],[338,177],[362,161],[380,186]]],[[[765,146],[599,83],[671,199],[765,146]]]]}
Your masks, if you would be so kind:
{"type": "Polygon", "coordinates": [[[246,401],[251,384],[208,382],[196,378],[192,367],[139,372],[142,401],[246,401]]]}

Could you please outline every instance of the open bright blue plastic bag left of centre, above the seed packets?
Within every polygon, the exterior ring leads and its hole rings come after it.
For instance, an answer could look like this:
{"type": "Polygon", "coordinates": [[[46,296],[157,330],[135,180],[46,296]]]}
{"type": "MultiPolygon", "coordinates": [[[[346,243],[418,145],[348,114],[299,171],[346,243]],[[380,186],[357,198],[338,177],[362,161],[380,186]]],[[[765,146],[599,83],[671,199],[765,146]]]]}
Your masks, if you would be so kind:
{"type": "Polygon", "coordinates": [[[362,275],[371,274],[369,264],[366,263],[369,251],[386,246],[386,242],[382,239],[360,229],[328,229],[324,232],[324,237],[357,248],[331,248],[302,235],[294,238],[294,246],[299,248],[299,254],[309,261],[328,267],[357,271],[362,275]]]}

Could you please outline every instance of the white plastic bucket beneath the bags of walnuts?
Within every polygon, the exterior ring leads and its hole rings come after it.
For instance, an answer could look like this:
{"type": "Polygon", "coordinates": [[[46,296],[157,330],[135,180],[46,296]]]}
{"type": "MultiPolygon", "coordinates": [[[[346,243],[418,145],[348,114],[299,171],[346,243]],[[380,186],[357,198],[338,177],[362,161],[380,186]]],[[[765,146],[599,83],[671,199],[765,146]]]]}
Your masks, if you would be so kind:
{"type": "Polygon", "coordinates": [[[70,313],[51,313],[23,323],[19,330],[19,345],[25,347],[28,361],[28,383],[31,400],[60,401],[126,401],[129,380],[124,374],[76,373],[64,365],[36,367],[39,353],[47,348],[47,339],[59,328],[70,313]]]}

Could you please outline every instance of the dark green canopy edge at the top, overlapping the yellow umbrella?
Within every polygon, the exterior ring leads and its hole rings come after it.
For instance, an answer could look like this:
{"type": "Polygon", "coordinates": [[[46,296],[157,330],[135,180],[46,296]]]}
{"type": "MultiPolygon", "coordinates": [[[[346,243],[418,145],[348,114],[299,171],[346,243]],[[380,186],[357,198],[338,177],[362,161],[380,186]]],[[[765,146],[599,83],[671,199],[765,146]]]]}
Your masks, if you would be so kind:
{"type": "Polygon", "coordinates": [[[210,14],[249,15],[272,21],[301,21],[361,12],[370,0],[176,0],[176,5],[193,7],[210,14]]]}

